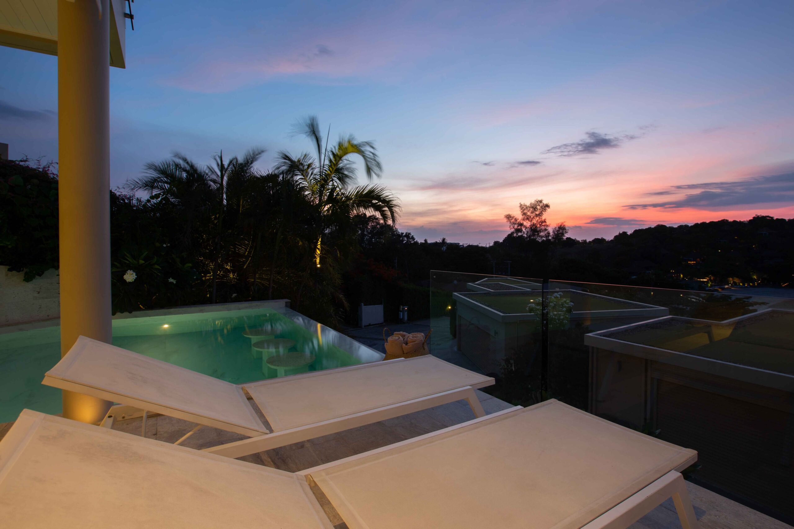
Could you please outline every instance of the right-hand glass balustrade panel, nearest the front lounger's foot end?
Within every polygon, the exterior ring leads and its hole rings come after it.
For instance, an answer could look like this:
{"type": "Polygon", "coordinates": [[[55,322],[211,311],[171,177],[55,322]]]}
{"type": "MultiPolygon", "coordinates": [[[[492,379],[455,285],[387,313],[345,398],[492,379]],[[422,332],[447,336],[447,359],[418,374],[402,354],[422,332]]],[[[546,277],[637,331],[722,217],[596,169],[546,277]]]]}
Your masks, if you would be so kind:
{"type": "Polygon", "coordinates": [[[794,300],[550,285],[573,305],[549,306],[549,397],[698,450],[693,481],[794,519],[794,300]]]}

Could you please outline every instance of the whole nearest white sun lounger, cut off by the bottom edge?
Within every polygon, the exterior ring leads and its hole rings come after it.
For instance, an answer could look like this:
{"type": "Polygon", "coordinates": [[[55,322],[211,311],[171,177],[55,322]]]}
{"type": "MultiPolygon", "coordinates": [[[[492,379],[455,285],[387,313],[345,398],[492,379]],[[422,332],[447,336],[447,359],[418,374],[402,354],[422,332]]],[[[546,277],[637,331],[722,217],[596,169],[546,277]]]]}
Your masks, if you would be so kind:
{"type": "Polygon", "coordinates": [[[0,442],[0,519],[329,529],[316,485],[349,529],[625,529],[670,496],[695,529],[676,471],[695,459],[556,401],[297,474],[25,410],[0,442]]]}

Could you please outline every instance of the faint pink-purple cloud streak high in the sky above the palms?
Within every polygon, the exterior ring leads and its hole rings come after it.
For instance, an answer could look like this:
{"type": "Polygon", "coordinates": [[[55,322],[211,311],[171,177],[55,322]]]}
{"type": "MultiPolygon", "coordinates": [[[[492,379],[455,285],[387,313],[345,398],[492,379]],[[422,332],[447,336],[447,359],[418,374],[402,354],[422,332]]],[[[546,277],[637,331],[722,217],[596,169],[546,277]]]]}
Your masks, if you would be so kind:
{"type": "Polygon", "coordinates": [[[403,24],[412,9],[412,2],[404,2],[385,13],[358,13],[317,27],[279,28],[267,36],[224,35],[161,82],[218,93],[291,77],[318,83],[399,79],[419,59],[441,49],[438,42],[445,38],[432,21],[403,24]]]}

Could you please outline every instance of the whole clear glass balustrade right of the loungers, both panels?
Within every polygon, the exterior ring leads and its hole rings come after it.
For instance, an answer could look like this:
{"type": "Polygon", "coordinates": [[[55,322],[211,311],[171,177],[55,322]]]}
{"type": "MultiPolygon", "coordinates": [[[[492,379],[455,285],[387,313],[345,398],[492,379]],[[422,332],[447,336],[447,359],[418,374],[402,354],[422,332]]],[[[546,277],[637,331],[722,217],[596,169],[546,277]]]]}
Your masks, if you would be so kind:
{"type": "Polygon", "coordinates": [[[431,352],[698,450],[686,474],[794,520],[794,299],[431,272],[431,352]]]}

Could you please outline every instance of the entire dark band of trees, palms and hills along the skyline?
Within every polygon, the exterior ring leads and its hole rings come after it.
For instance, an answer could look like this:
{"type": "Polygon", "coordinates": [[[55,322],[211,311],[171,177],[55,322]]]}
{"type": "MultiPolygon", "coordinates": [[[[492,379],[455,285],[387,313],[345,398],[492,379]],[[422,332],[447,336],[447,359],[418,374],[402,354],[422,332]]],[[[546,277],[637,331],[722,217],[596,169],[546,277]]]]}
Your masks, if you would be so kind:
{"type": "MultiPolygon", "coordinates": [[[[384,301],[428,316],[430,270],[670,288],[729,282],[786,286],[794,273],[794,219],[756,216],[576,240],[549,226],[549,205],[519,205],[511,231],[488,247],[418,241],[395,228],[399,201],[358,185],[352,159],[380,176],[371,142],[327,139],[299,124],[314,155],[218,154],[210,166],[181,155],[148,163],[110,194],[115,311],[288,298],[323,323],[355,323],[359,303],[384,301]],[[141,192],[144,196],[141,196],[141,192]],[[130,274],[130,272],[132,274],[130,274]]],[[[0,264],[29,281],[57,268],[57,174],[35,161],[0,160],[0,264]]]]}

